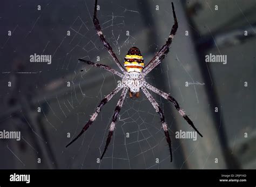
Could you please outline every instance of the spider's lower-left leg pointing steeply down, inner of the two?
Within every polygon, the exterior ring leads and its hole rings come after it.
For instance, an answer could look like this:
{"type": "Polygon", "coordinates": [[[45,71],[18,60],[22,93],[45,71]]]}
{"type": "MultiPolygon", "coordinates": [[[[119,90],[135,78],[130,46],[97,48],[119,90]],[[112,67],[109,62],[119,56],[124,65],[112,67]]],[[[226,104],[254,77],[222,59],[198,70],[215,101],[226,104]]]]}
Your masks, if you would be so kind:
{"type": "Polygon", "coordinates": [[[104,148],[102,156],[100,157],[100,160],[102,160],[104,154],[106,153],[107,147],[109,146],[109,143],[111,141],[111,137],[112,137],[113,131],[114,131],[114,126],[116,126],[117,116],[118,116],[118,114],[119,114],[119,112],[120,112],[120,110],[123,106],[124,99],[125,99],[127,91],[128,91],[128,88],[125,87],[123,89],[123,92],[122,92],[121,96],[120,96],[120,99],[117,102],[116,109],[114,109],[114,115],[113,115],[113,119],[112,119],[112,122],[111,122],[111,125],[110,125],[109,135],[107,136],[106,146],[104,148]]]}

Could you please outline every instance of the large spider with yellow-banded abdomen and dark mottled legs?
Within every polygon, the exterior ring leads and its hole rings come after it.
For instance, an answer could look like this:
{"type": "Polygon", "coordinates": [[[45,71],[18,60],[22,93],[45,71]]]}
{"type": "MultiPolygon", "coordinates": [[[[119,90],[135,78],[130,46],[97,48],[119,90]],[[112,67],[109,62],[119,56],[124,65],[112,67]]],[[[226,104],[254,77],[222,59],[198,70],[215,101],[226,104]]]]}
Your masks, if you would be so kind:
{"type": "Polygon", "coordinates": [[[99,20],[97,18],[97,0],[95,1],[93,24],[95,25],[95,28],[96,28],[97,34],[100,38],[100,41],[102,41],[102,43],[104,44],[104,47],[110,53],[111,57],[113,58],[114,62],[117,64],[117,66],[120,68],[122,73],[119,73],[118,71],[113,70],[111,67],[103,65],[103,64],[93,63],[92,61],[84,60],[84,59],[78,59],[78,60],[82,61],[83,63],[89,64],[93,67],[103,68],[104,70],[110,71],[113,74],[118,75],[120,78],[122,78],[122,84],[117,86],[117,88],[115,88],[109,95],[105,96],[105,98],[102,101],[100,101],[98,107],[96,108],[96,112],[92,114],[90,120],[85,124],[82,131],[80,131],[80,133],[66,147],[70,146],[70,144],[75,142],[77,140],[77,138],[79,138],[91,126],[93,121],[96,120],[96,117],[98,116],[102,107],[107,102],[109,102],[113,98],[113,96],[116,95],[121,89],[123,89],[123,91],[122,91],[122,94],[120,96],[120,99],[118,100],[116,109],[114,109],[114,115],[113,115],[113,118],[112,118],[112,122],[110,124],[109,134],[108,134],[107,140],[106,140],[106,145],[105,145],[104,151],[102,153],[102,156],[100,157],[100,160],[102,160],[102,158],[103,158],[103,156],[104,156],[104,154],[107,150],[107,147],[109,146],[109,143],[111,141],[111,137],[113,135],[114,128],[116,126],[117,116],[120,112],[120,109],[123,106],[124,99],[125,99],[126,94],[127,94],[128,91],[129,91],[129,94],[130,94],[130,98],[133,98],[133,97],[138,97],[139,96],[139,91],[141,89],[142,92],[145,94],[146,98],[153,105],[154,109],[156,109],[156,112],[160,115],[160,120],[161,120],[161,124],[163,126],[163,129],[164,129],[164,134],[165,134],[165,137],[166,137],[166,141],[169,145],[171,162],[172,162],[171,138],[170,138],[170,135],[169,135],[168,126],[165,122],[164,113],[161,110],[161,108],[159,107],[156,100],[154,100],[153,96],[149,93],[149,91],[147,91],[147,89],[150,89],[154,93],[157,93],[160,96],[162,96],[164,99],[171,101],[173,103],[174,107],[178,110],[179,114],[181,116],[183,116],[183,118],[187,121],[187,123],[190,124],[193,127],[193,129],[196,130],[197,133],[201,137],[203,137],[201,135],[201,133],[197,130],[197,128],[194,126],[193,122],[185,114],[183,109],[180,108],[179,103],[171,95],[169,95],[169,94],[167,94],[163,91],[160,91],[160,89],[158,89],[158,88],[155,88],[155,87],[151,86],[144,79],[144,77],[149,72],[151,72],[154,67],[156,67],[157,65],[159,65],[161,63],[161,61],[165,58],[166,54],[169,52],[169,47],[172,43],[172,39],[174,37],[174,34],[176,34],[177,29],[178,29],[178,22],[177,22],[177,18],[176,18],[176,13],[174,11],[173,3],[172,3],[172,12],[173,12],[173,18],[174,18],[174,25],[172,26],[171,33],[170,33],[165,45],[163,45],[161,47],[161,49],[156,53],[156,55],[152,58],[152,60],[146,66],[144,66],[144,59],[143,59],[143,56],[140,53],[139,49],[137,47],[131,47],[131,49],[128,51],[128,53],[126,54],[126,56],[124,58],[124,60],[125,60],[124,61],[124,67],[125,68],[124,68],[120,64],[119,60],[116,57],[116,54],[114,54],[114,52],[112,50],[112,47],[106,41],[106,39],[103,35],[102,29],[100,28],[99,20]]]}

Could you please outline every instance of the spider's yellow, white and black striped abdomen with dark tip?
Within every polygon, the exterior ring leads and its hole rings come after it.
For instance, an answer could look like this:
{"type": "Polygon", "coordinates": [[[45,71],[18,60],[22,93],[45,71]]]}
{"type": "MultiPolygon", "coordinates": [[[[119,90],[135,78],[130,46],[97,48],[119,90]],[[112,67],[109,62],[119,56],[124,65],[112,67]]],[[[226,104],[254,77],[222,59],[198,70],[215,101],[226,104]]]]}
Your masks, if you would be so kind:
{"type": "Polygon", "coordinates": [[[131,47],[124,60],[124,66],[127,72],[142,72],[144,59],[137,47],[131,47]]]}

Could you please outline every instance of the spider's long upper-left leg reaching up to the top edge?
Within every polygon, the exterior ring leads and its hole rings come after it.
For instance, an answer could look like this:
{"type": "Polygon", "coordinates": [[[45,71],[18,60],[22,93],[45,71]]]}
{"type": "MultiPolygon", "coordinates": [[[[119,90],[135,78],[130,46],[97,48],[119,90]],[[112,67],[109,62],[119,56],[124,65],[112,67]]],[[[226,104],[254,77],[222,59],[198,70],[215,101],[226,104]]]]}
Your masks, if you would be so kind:
{"type": "Polygon", "coordinates": [[[117,59],[116,54],[114,54],[112,47],[110,44],[106,41],[105,37],[103,36],[102,29],[99,24],[99,20],[97,18],[97,0],[95,1],[95,9],[94,9],[94,15],[93,15],[93,24],[95,25],[95,29],[97,31],[97,34],[100,38],[100,41],[104,44],[104,47],[106,50],[110,53],[111,57],[113,58],[114,62],[117,64],[117,66],[120,68],[120,70],[124,73],[125,69],[123,66],[120,64],[119,60],[117,59]]]}

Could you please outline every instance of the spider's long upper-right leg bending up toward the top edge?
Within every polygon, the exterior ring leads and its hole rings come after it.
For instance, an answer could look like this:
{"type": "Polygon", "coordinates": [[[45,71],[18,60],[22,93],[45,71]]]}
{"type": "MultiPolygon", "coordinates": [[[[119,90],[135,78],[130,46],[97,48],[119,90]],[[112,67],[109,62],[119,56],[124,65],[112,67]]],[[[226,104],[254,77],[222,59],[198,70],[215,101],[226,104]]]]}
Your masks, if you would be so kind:
{"type": "Polygon", "coordinates": [[[172,43],[172,39],[173,39],[174,35],[176,34],[177,29],[178,29],[178,22],[177,22],[176,13],[174,11],[173,3],[172,3],[172,12],[173,12],[173,18],[174,18],[174,25],[172,26],[171,33],[170,33],[165,45],[163,45],[161,47],[161,49],[156,53],[156,55],[152,58],[152,60],[149,62],[149,64],[147,64],[144,67],[144,69],[143,69],[144,75],[151,72],[154,67],[156,67],[158,64],[160,64],[161,61],[165,58],[166,54],[169,52],[169,47],[172,43]]]}

